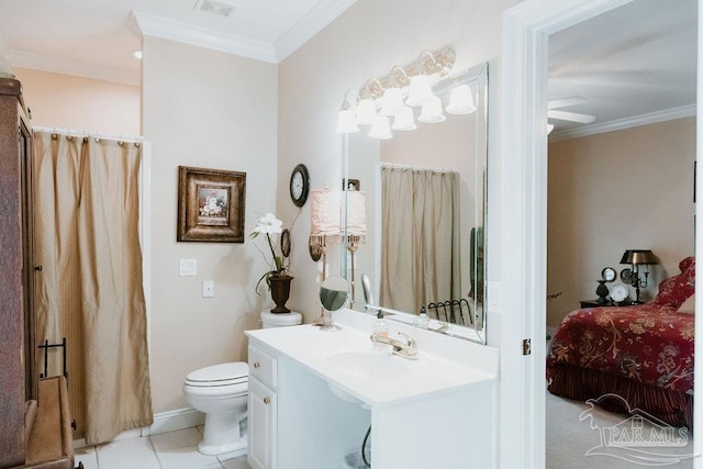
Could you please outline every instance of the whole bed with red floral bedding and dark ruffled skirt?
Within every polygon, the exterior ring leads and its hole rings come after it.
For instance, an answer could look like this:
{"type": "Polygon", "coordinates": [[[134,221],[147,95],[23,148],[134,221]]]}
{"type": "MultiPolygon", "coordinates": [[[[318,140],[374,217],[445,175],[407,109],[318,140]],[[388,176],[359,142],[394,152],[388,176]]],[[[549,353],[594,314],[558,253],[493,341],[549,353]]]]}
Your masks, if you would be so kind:
{"type": "Polygon", "coordinates": [[[549,392],[692,428],[695,259],[679,269],[649,302],[570,312],[547,350],[549,392]]]}

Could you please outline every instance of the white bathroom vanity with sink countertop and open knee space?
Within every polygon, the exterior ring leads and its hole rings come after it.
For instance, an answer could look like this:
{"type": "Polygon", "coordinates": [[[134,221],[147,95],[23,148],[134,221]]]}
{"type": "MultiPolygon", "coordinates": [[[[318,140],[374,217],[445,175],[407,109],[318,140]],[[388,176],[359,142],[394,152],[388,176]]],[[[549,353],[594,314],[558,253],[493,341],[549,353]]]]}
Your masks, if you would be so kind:
{"type": "Polygon", "coordinates": [[[496,467],[496,349],[389,321],[416,340],[410,360],[373,349],[372,316],[334,320],[246,332],[254,469],[343,467],[369,425],[375,468],[496,467]]]}

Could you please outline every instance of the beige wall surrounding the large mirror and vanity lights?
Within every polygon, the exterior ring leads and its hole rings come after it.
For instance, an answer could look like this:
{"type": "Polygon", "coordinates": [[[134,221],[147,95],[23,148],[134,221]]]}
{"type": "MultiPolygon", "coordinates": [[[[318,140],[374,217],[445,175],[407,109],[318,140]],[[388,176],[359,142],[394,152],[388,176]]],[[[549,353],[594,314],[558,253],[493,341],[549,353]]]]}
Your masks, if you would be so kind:
{"type": "MultiPolygon", "coordinates": [[[[342,136],[334,133],[336,115],[347,89],[360,88],[369,78],[386,76],[394,65],[415,60],[422,51],[437,51],[451,46],[456,52],[456,70],[480,62],[489,62],[491,77],[491,118],[489,122],[489,204],[499,206],[500,185],[500,55],[502,46],[503,10],[517,3],[513,0],[488,1],[423,1],[423,0],[359,0],[341,18],[315,35],[279,66],[279,177],[282,189],[288,185],[291,169],[304,163],[314,188],[325,182],[337,183],[342,175],[342,136]],[[304,119],[301,119],[301,112],[304,119]]],[[[373,167],[358,174],[373,181],[373,167]]],[[[290,216],[293,205],[288,191],[279,190],[278,206],[290,216]]],[[[314,264],[306,249],[310,208],[300,216],[300,230],[293,233],[300,245],[295,257],[295,295],[292,304],[306,319],[317,314],[314,264]]],[[[489,244],[500,243],[500,214],[489,208],[489,244]]],[[[496,250],[489,265],[499,266],[496,250]]],[[[338,258],[338,250],[333,256],[338,258]]],[[[337,270],[338,271],[338,270],[337,270]]],[[[489,271],[489,275],[491,272],[489,271]]],[[[498,269],[493,278],[498,276],[498,269]]],[[[489,324],[491,319],[489,317],[489,324]]],[[[489,325],[498,334],[498,319],[489,325]]]]}

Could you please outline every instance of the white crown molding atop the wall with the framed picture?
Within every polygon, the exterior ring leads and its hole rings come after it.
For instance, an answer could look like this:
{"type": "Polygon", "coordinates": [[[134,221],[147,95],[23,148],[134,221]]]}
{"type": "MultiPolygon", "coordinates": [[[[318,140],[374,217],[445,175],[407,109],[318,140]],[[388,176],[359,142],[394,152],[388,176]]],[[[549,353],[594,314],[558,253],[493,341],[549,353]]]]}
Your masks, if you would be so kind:
{"type": "MultiPolygon", "coordinates": [[[[196,27],[141,11],[134,11],[132,14],[143,35],[177,41],[274,64],[278,62],[270,44],[235,35],[213,34],[204,27],[196,27]]],[[[133,23],[131,23],[131,29],[134,32],[133,23]]]]}

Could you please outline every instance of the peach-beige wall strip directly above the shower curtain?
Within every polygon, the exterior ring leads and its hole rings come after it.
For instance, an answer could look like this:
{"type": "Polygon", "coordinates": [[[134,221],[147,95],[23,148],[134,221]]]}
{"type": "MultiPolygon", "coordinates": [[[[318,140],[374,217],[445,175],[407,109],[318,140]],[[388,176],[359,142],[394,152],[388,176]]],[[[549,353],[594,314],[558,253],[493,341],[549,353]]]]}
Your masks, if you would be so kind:
{"type": "Polygon", "coordinates": [[[141,135],[141,89],[131,85],[25,68],[22,81],[32,125],[141,135]]]}

